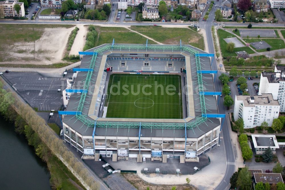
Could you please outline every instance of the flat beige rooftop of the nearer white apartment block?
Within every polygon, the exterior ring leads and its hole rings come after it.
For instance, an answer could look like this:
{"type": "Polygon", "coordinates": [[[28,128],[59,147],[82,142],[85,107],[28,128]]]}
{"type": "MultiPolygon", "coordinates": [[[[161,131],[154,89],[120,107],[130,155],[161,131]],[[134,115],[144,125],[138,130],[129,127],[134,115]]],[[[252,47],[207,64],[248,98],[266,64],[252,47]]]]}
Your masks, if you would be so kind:
{"type": "Polygon", "coordinates": [[[257,105],[279,106],[278,100],[274,100],[272,94],[261,94],[260,96],[237,95],[237,100],[242,100],[245,107],[255,107],[257,105]],[[251,103],[253,102],[253,103],[251,103]]]}

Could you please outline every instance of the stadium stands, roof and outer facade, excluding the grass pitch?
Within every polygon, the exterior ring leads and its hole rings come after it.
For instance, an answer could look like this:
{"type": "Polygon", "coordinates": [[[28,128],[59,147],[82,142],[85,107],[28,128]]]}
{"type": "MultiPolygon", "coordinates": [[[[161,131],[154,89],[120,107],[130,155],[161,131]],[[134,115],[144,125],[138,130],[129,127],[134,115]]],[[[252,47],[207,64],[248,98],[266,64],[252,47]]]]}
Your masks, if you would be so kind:
{"type": "MultiPolygon", "coordinates": [[[[98,160],[143,157],[167,162],[169,158],[199,161],[218,145],[221,118],[215,92],[211,56],[189,45],[104,44],[80,52],[80,68],[63,91],[64,141],[98,160]],[[181,74],[183,119],[105,118],[109,73],[181,74]]],[[[120,109],[118,107],[118,109],[120,109]]]]}

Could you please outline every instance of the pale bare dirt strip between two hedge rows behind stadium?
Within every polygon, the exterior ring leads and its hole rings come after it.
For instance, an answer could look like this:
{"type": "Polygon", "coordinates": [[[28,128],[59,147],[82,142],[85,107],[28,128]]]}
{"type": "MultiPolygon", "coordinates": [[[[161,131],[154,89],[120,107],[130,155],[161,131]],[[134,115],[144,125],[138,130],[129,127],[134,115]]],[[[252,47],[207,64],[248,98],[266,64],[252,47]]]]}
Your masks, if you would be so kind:
{"type": "Polygon", "coordinates": [[[79,51],[83,50],[83,47],[86,43],[86,34],[87,34],[87,26],[78,25],[79,30],[77,31],[77,35],[69,52],[69,55],[78,55],[79,51]]]}

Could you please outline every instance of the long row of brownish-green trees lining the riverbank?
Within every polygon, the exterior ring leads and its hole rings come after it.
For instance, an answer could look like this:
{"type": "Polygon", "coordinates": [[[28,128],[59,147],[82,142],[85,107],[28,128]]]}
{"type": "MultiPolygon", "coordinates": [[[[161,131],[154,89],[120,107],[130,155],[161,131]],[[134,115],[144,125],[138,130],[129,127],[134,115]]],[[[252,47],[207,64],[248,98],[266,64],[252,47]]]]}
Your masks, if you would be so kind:
{"type": "MultiPolygon", "coordinates": [[[[44,119],[36,114],[36,112],[28,105],[24,104],[16,94],[7,92],[3,89],[3,83],[0,82],[0,112],[4,114],[10,121],[15,121],[17,113],[22,116],[27,125],[36,132],[44,145],[48,146],[50,151],[56,155],[62,162],[74,173],[76,177],[85,185],[87,189],[99,189],[99,184],[94,181],[89,171],[84,165],[68,150],[62,140],[58,139],[51,128],[46,125],[44,119]]],[[[25,130],[29,130],[25,127],[25,130]]],[[[42,149],[39,144],[36,150],[42,149]]],[[[38,151],[42,152],[42,151],[38,151]]]]}

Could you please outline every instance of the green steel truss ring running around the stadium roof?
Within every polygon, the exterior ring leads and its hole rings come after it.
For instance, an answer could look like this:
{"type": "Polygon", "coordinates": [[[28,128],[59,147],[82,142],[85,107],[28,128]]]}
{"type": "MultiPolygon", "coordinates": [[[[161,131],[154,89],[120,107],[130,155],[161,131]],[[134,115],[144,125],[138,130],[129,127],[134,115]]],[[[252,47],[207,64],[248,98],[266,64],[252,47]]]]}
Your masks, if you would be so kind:
{"type": "MultiPolygon", "coordinates": [[[[180,50],[181,52],[189,52],[190,56],[195,55],[196,56],[196,67],[197,70],[201,70],[201,64],[200,64],[200,57],[199,52],[186,46],[172,46],[172,45],[105,45],[103,47],[97,48],[93,52],[93,57],[91,59],[91,63],[89,66],[89,71],[87,72],[86,81],[84,84],[84,92],[82,92],[80,102],[77,108],[77,113],[82,113],[85,98],[87,96],[87,90],[90,85],[91,76],[93,73],[93,69],[95,69],[95,61],[97,58],[97,54],[103,54],[104,51],[109,50],[112,51],[113,49],[119,49],[119,50],[180,50]]],[[[202,74],[201,72],[197,73],[198,75],[198,86],[199,91],[203,92],[203,80],[202,80],[202,74]]],[[[151,129],[193,129],[195,127],[198,127],[200,124],[205,122],[207,120],[206,117],[206,107],[205,107],[205,98],[203,93],[200,93],[200,104],[201,104],[201,117],[196,117],[194,121],[185,122],[185,123],[159,123],[159,122],[110,122],[110,121],[96,121],[89,118],[86,114],[77,114],[76,118],[83,122],[88,127],[102,127],[102,128],[151,128],[151,129]],[[202,117],[205,116],[205,117],[202,117]]]]}

